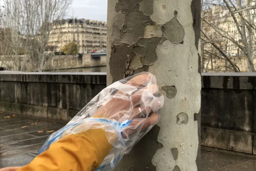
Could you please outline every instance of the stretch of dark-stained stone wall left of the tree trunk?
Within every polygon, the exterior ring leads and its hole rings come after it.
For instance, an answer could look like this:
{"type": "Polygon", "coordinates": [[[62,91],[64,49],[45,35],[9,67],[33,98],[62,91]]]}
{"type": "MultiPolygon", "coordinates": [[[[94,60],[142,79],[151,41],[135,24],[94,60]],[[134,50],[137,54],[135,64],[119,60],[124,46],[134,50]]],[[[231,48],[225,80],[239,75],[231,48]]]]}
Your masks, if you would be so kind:
{"type": "Polygon", "coordinates": [[[106,73],[0,73],[0,110],[69,121],[106,87],[106,73]]]}

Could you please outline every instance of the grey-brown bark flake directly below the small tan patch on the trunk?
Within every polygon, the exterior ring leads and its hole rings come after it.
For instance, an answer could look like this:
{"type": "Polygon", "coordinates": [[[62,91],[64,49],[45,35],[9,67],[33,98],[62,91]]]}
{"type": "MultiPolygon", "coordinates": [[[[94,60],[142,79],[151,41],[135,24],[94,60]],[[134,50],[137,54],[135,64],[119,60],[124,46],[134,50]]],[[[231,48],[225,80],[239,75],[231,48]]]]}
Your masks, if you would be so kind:
{"type": "Polygon", "coordinates": [[[151,65],[157,60],[156,48],[160,37],[151,37],[150,39],[140,39],[137,45],[146,48],[145,56],[141,59],[141,63],[144,65],[151,65]]]}

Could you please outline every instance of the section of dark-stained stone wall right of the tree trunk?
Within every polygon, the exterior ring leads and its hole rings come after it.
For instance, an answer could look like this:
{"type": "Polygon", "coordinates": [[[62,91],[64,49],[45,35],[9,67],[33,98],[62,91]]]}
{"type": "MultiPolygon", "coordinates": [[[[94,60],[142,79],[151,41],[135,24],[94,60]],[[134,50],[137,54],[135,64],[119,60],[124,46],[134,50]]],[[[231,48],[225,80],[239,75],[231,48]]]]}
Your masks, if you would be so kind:
{"type": "Polygon", "coordinates": [[[203,146],[256,154],[256,73],[204,73],[203,146]]]}

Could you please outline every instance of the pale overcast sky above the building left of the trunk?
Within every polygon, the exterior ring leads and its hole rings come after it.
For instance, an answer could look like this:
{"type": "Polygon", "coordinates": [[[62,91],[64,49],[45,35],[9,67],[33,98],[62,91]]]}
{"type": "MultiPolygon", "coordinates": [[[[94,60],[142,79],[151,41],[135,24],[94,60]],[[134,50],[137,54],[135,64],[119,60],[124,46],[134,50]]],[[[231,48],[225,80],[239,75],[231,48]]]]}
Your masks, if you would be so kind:
{"type": "Polygon", "coordinates": [[[73,0],[66,18],[107,21],[108,0],[73,0]]]}

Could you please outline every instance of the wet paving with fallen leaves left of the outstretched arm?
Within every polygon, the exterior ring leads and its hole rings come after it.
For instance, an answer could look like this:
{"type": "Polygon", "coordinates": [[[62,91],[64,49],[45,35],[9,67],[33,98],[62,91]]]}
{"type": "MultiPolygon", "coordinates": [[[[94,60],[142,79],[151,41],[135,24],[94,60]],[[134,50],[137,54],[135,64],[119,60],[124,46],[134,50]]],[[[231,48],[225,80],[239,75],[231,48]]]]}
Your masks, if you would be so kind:
{"type": "Polygon", "coordinates": [[[1,113],[0,168],[28,164],[37,155],[50,132],[64,125],[65,123],[55,121],[1,113]]]}

